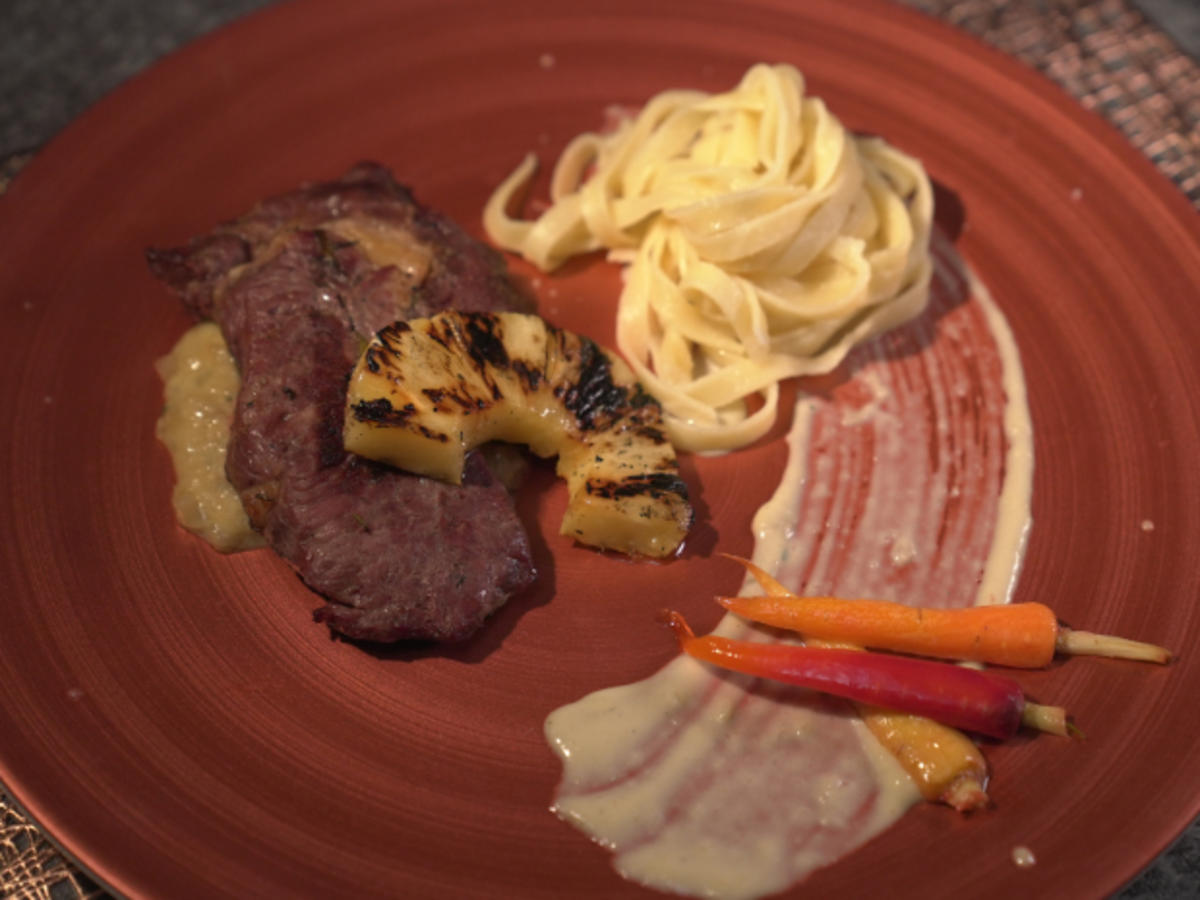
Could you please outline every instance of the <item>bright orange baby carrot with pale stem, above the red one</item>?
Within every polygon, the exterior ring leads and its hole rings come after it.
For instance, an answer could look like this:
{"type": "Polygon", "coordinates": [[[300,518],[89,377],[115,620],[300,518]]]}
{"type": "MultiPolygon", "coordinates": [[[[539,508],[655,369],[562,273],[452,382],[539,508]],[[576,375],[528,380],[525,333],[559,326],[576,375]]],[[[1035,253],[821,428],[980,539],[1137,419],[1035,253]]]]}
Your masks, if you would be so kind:
{"type": "Polygon", "coordinates": [[[1154,644],[1064,628],[1043,604],[938,610],[887,600],[797,596],[782,592],[779,582],[754,564],[744,559],[738,562],[750,570],[769,596],[718,598],[718,602],[738,616],[799,631],[806,638],[1019,668],[1048,666],[1055,653],[1150,662],[1170,659],[1166,649],[1154,644]]]}

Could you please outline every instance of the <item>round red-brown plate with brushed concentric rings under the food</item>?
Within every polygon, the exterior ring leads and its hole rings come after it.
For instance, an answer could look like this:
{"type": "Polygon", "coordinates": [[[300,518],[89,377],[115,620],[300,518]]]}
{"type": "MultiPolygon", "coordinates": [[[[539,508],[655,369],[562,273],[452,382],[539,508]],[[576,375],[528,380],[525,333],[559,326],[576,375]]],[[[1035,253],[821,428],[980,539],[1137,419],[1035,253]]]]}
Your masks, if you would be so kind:
{"type": "MultiPolygon", "coordinates": [[[[1182,650],[1033,677],[1086,743],[996,749],[994,810],[916,809],[812,895],[1100,895],[1200,811],[1200,229],[1115,132],[882,2],[313,0],[133,80],[0,202],[0,776],[101,880],[178,898],[647,893],[547,811],[542,719],[672,655],[646,628],[659,598],[703,619],[738,583],[708,556],[749,551],[778,434],[688,464],[703,524],[670,565],[563,544],[562,494],[535,485],[538,589],[463,648],[367,653],[311,622],[269,553],[220,557],[174,526],[152,364],[187,320],[142,251],[362,157],[479,233],[526,150],[757,60],[799,66],[961,200],[959,248],[1013,325],[1034,420],[1020,595],[1182,650]],[[1014,866],[1015,845],[1039,864],[1014,866]]],[[[598,263],[541,300],[607,338],[617,283],[598,263]]]]}

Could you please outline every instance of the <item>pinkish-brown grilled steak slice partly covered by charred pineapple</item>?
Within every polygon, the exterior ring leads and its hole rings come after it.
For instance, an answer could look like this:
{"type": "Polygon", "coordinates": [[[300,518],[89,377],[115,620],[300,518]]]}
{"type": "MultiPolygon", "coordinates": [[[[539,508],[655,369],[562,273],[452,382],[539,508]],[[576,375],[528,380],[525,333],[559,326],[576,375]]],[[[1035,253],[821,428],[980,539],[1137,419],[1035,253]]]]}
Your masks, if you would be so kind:
{"type": "Polygon", "coordinates": [[[533,581],[524,529],[481,458],[454,486],[342,449],[346,379],[371,334],[451,306],[528,307],[490,248],[360,164],[148,260],[238,361],[227,474],[329,600],[318,620],[366,641],[460,640],[533,581]]]}

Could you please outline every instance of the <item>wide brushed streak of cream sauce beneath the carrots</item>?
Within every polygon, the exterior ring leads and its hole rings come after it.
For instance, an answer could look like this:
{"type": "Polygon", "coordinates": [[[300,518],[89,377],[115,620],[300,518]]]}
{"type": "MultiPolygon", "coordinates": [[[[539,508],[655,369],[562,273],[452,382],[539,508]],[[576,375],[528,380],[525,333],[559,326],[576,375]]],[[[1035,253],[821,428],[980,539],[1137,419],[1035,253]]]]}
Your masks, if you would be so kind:
{"type": "MultiPolygon", "coordinates": [[[[1003,317],[935,239],[931,308],[797,403],[755,562],[808,593],[1003,602],[1030,524],[1032,434],[1003,317]]],[[[756,590],[749,580],[744,590],[756,590]]],[[[769,640],[732,616],[725,635],[769,640]]],[[[918,793],[846,707],[680,658],[554,710],[554,811],[646,886],[739,900],[860,846],[918,793]]]]}

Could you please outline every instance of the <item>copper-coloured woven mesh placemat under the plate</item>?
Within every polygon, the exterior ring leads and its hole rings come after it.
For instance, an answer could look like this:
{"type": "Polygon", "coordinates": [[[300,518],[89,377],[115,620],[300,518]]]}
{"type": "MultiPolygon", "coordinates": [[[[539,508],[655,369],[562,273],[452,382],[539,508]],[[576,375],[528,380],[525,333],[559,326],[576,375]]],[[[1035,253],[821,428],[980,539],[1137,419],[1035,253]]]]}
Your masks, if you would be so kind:
{"type": "MultiPolygon", "coordinates": [[[[1046,74],[1120,128],[1200,208],[1200,65],[1127,0],[904,1],[1046,74]]],[[[31,156],[0,162],[0,193],[31,156]]],[[[1152,895],[1156,877],[1148,872],[1141,890],[1135,882],[1126,893],[1152,895]]],[[[0,791],[0,898],[104,896],[0,791]]]]}

